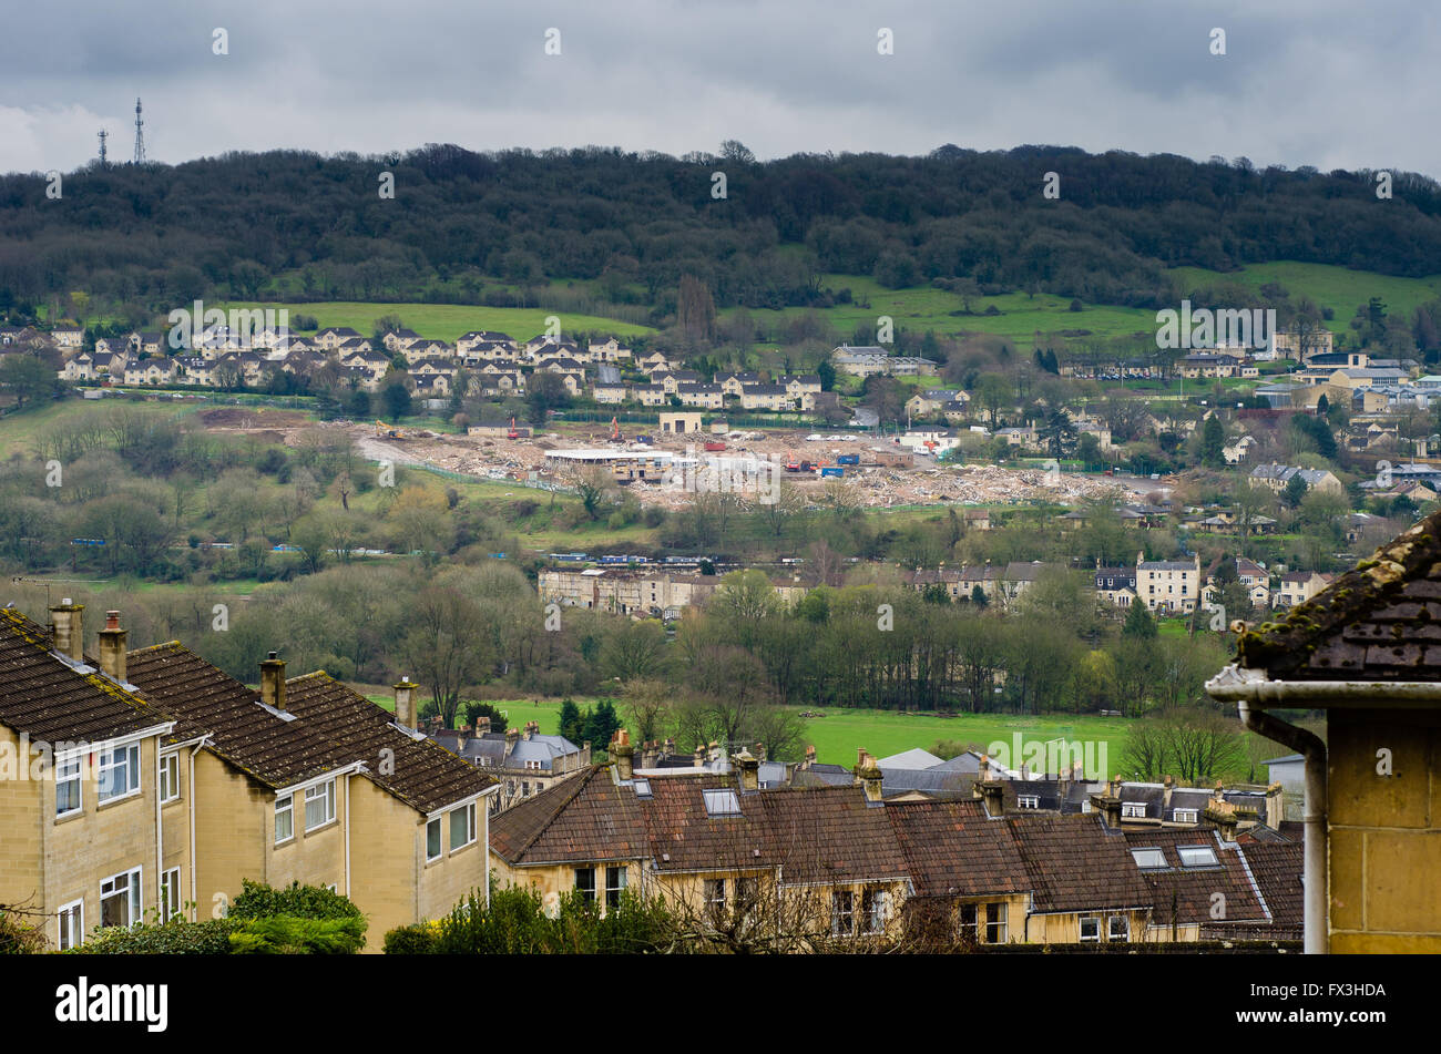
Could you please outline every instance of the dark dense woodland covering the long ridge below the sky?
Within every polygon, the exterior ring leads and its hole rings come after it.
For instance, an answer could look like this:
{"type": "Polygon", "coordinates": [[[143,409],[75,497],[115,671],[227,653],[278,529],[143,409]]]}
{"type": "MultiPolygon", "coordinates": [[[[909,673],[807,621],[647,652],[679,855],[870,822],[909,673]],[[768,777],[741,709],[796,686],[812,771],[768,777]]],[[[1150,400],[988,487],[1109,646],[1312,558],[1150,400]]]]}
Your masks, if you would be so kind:
{"type": "Polygon", "coordinates": [[[1369,171],[1059,147],[761,163],[736,143],[683,158],[431,144],[91,164],[62,199],[45,187],[37,173],[0,177],[12,318],[73,308],[59,298],[75,289],[138,323],[197,297],[533,304],[545,282],[572,279],[594,281],[618,317],[659,324],[687,274],[720,308],[826,307],[843,295],[821,288],[826,272],[1150,308],[1177,299],[1163,274],[1174,265],[1441,272],[1441,189],[1421,176],[1396,173],[1379,200],[1369,171]],[[1059,200],[1042,194],[1048,171],[1059,200]]]}

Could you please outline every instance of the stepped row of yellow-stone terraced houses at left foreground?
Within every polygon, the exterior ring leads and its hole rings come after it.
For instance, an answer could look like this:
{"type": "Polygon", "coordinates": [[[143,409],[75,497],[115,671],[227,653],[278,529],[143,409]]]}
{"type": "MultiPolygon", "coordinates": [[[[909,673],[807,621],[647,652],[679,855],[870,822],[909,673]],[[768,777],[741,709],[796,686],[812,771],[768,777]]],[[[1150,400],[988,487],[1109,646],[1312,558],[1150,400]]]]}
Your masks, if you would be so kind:
{"type": "MultiPolygon", "coordinates": [[[[208,917],[242,880],[329,886],[388,929],[486,890],[494,779],[324,672],[271,652],[246,687],[177,642],[127,652],[111,612],[99,658],[79,605],[52,626],[4,611],[4,743],[56,749],[56,776],[0,780],[0,901],[35,903],[59,946],[157,909],[208,917]]],[[[396,685],[414,714],[418,685],[396,685]]],[[[414,719],[412,719],[414,724],[414,719]]]]}

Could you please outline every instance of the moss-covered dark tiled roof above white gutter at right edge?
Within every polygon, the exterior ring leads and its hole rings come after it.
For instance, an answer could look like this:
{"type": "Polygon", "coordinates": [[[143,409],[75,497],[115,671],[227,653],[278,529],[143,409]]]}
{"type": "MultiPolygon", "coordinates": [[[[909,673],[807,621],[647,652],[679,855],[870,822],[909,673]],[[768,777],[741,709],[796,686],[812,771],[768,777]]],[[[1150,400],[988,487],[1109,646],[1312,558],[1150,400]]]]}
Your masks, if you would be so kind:
{"type": "Polygon", "coordinates": [[[1241,635],[1238,664],[1282,680],[1441,680],[1441,513],[1241,635]]]}

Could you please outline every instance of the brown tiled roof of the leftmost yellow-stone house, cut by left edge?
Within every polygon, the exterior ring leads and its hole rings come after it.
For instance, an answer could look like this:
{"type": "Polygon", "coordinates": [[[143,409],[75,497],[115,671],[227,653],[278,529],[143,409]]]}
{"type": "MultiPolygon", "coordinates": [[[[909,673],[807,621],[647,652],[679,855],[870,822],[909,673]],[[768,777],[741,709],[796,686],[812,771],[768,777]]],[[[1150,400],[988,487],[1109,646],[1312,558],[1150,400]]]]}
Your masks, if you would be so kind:
{"type": "Polygon", "coordinates": [[[48,626],[0,609],[0,724],[32,742],[102,743],[169,723],[94,664],[53,651],[48,626]]]}

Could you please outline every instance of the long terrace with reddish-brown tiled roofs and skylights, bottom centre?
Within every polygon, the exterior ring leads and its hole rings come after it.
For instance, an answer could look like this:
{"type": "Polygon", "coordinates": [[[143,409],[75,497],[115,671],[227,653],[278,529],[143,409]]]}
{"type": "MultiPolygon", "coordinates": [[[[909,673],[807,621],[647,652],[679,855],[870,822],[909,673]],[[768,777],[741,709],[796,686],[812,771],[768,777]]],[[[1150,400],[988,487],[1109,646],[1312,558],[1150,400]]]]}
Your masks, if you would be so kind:
{"type": "Polygon", "coordinates": [[[1006,809],[1001,780],[978,783],[977,798],[886,801],[869,756],[844,785],[762,789],[744,752],[732,772],[633,769],[620,733],[610,753],[612,765],[494,819],[497,881],[533,888],[548,910],[571,893],[608,909],[631,890],[723,939],[744,936],[736,920],[752,937],[810,932],[921,950],[1197,940],[1221,923],[1255,939],[1298,932],[1300,845],[1275,832],[1262,850],[1275,887],[1264,888],[1233,826],[1146,831],[1133,845],[1105,793],[1088,814],[1038,815],[1006,809]],[[1170,848],[1150,855],[1161,842],[1170,848]],[[1203,914],[1199,891],[1222,873],[1233,914],[1203,914]]]}

